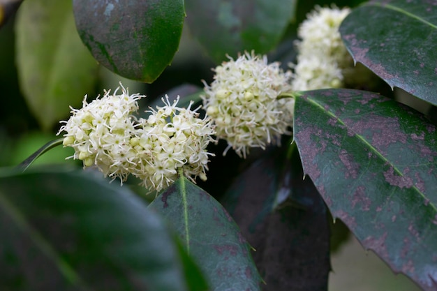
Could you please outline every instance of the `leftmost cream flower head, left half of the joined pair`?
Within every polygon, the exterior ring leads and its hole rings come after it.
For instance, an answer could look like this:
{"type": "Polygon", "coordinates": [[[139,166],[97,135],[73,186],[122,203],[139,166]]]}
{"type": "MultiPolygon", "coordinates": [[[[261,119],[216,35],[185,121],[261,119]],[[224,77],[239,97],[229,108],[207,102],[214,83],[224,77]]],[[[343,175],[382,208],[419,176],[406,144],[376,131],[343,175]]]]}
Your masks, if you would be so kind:
{"type": "MultiPolygon", "coordinates": [[[[82,160],[84,167],[96,165],[105,176],[125,181],[135,164],[135,153],[130,142],[135,132],[133,112],[138,110],[137,100],[144,97],[129,95],[121,87],[121,94],[106,91],[102,98],[87,103],[82,109],[71,108],[72,116],[61,121],[59,133],[65,131],[64,146],[73,147],[73,158],[82,160]]],[[[59,134],[58,133],[58,134],[59,134]]]]}

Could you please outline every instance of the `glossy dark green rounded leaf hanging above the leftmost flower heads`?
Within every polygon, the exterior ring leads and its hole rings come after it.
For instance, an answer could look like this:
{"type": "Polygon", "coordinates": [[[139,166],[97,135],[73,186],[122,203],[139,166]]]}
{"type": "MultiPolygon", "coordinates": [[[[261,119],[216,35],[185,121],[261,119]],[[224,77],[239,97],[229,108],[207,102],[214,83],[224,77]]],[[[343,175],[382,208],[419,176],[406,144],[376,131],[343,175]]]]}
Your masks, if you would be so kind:
{"type": "Polygon", "coordinates": [[[179,47],[183,0],[73,0],[73,10],[91,54],[122,77],[153,82],[179,47]]]}

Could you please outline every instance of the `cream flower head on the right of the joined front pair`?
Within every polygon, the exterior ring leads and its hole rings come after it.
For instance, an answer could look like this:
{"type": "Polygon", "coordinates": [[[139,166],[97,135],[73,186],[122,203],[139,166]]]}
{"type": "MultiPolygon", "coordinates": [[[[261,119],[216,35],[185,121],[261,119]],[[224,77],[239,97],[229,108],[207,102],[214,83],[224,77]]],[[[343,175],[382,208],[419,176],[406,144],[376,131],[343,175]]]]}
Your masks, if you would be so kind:
{"type": "Polygon", "coordinates": [[[179,98],[170,103],[163,98],[165,106],[151,109],[148,119],[142,119],[137,131],[139,153],[145,155],[145,163],[134,172],[147,188],[157,191],[177,179],[177,169],[183,167],[188,179],[206,180],[209,156],[207,145],[213,140],[212,121],[200,119],[196,110],[177,107],[179,98]]]}

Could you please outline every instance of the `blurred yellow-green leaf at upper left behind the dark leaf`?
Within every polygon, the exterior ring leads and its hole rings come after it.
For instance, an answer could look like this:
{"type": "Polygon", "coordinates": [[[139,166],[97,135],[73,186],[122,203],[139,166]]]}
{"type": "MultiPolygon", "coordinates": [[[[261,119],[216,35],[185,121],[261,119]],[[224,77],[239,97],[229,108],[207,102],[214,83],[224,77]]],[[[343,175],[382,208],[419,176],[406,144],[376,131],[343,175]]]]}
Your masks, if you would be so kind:
{"type": "Polygon", "coordinates": [[[44,130],[79,107],[96,79],[96,61],[75,31],[71,1],[24,1],[17,13],[21,89],[44,130]]]}

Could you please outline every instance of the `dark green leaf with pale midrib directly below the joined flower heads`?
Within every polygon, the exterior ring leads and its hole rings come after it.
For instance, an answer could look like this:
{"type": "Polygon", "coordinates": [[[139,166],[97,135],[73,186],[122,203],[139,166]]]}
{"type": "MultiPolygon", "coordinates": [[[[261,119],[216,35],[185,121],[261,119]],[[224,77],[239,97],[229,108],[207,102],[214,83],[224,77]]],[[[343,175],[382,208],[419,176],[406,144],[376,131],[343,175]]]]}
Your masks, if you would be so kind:
{"type": "Polygon", "coordinates": [[[228,212],[185,177],[151,202],[179,233],[212,290],[260,290],[249,245],[228,212]]]}

